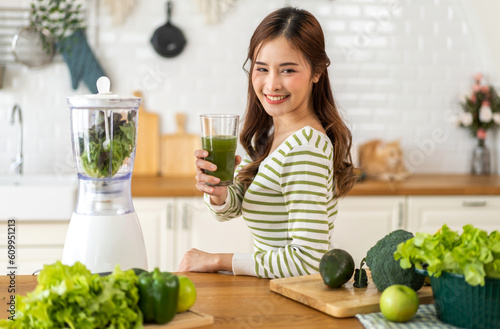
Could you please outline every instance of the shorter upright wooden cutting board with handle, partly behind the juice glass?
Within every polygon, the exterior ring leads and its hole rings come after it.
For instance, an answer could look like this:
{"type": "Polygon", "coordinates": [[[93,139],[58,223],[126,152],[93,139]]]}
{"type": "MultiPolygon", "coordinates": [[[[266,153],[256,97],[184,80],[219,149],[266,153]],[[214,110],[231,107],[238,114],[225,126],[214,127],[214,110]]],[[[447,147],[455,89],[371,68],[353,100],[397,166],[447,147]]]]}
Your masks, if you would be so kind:
{"type": "Polygon", "coordinates": [[[186,115],[175,115],[177,131],[161,137],[161,176],[194,177],[194,151],[201,148],[201,137],[186,132],[186,115]]]}

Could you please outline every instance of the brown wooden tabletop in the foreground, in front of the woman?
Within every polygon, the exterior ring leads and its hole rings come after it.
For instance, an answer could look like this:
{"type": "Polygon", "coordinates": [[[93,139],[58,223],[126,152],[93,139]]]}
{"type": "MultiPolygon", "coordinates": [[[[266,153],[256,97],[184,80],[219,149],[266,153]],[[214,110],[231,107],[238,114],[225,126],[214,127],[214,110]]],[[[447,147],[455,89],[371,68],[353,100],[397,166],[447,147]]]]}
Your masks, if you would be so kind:
{"type": "MultiPolygon", "coordinates": [[[[338,319],[269,290],[268,279],[215,273],[183,273],[197,288],[193,310],[214,317],[208,328],[342,328],[363,329],[356,318],[338,319]]],[[[0,300],[10,298],[9,277],[0,276],[0,300]],[[4,299],[5,298],[5,299],[4,299]]],[[[16,293],[26,295],[37,284],[36,276],[16,277],[16,293]]],[[[6,307],[0,316],[7,318],[6,307]]]]}

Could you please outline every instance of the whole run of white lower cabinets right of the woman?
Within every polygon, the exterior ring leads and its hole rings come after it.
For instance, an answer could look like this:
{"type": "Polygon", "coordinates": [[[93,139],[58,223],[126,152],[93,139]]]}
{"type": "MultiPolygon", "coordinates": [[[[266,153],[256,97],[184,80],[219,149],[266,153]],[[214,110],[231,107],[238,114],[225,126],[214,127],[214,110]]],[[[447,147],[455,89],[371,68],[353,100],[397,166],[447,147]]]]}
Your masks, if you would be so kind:
{"type": "Polygon", "coordinates": [[[500,196],[347,196],[339,200],[332,247],[347,250],[356,266],[395,229],[435,233],[443,224],[461,232],[473,224],[500,231],[500,196]]]}

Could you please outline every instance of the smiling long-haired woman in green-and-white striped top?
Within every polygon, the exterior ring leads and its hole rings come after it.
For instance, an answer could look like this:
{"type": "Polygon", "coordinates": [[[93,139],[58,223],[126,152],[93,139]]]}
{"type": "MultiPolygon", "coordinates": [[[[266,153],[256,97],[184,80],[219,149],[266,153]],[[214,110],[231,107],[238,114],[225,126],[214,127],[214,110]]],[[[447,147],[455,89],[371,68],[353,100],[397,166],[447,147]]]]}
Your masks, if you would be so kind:
{"type": "Polygon", "coordinates": [[[198,190],[219,220],[243,215],[253,254],[188,251],[179,271],[233,271],[266,278],[318,272],[330,248],[337,199],[355,180],[351,133],[335,106],[323,31],[305,10],[268,15],[251,40],[248,104],[235,185],[210,186],[215,165],[195,152],[198,190]],[[241,164],[240,164],[241,163],[241,164]]]}

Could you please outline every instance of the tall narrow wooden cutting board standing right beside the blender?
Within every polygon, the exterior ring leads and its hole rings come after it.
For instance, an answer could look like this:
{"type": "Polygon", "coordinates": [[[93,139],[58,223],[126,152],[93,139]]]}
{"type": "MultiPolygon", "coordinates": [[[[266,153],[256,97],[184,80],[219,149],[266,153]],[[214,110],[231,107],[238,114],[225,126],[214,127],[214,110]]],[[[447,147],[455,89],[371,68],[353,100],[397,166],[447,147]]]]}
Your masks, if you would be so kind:
{"type": "Polygon", "coordinates": [[[144,108],[144,98],[140,91],[134,96],[141,97],[139,107],[139,128],[135,150],[134,177],[158,176],[160,172],[160,125],[158,114],[144,108]]]}

